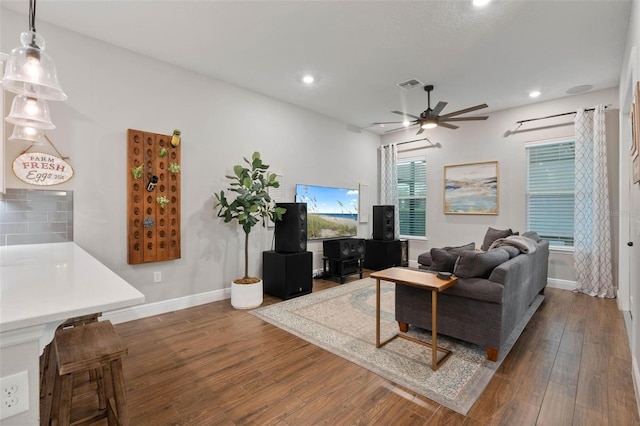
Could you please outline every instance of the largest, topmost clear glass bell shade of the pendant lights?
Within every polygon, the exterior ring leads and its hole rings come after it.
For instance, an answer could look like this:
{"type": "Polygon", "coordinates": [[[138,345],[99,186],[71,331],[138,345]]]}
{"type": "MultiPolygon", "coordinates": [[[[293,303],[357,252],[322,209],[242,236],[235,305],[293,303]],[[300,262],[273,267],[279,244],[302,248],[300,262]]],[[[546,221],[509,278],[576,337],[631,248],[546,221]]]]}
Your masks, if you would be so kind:
{"type": "Polygon", "coordinates": [[[44,38],[35,31],[20,34],[21,47],[11,51],[2,86],[13,93],[33,98],[64,101],[53,59],[44,52],[44,38]]]}

